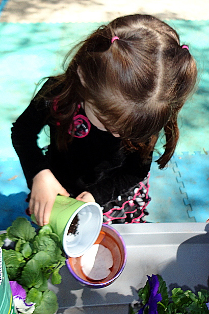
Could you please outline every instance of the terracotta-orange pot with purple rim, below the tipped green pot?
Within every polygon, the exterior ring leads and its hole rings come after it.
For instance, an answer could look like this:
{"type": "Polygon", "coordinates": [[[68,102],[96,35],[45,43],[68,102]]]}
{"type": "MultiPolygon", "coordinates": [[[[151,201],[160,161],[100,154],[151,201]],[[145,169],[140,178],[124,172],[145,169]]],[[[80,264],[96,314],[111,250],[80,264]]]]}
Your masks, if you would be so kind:
{"type": "Polygon", "coordinates": [[[111,273],[107,278],[93,280],[87,277],[82,271],[81,257],[68,257],[66,264],[70,273],[82,284],[93,288],[103,288],[111,284],[122,273],[127,259],[127,250],[119,232],[111,226],[104,224],[102,225],[101,232],[95,244],[103,245],[112,253],[113,266],[110,268],[111,273]]]}

